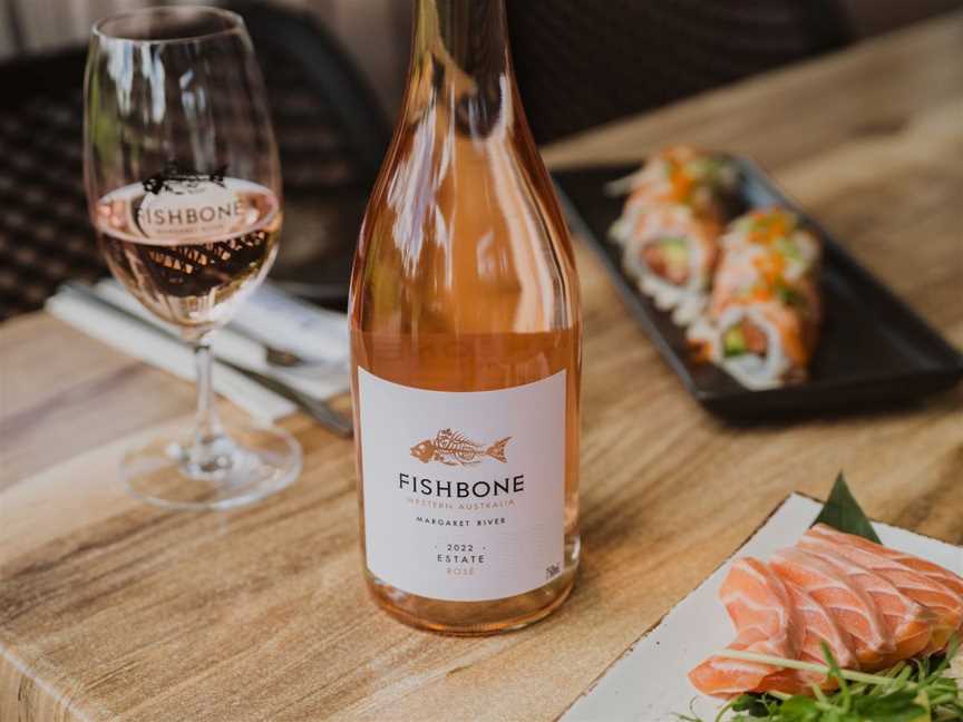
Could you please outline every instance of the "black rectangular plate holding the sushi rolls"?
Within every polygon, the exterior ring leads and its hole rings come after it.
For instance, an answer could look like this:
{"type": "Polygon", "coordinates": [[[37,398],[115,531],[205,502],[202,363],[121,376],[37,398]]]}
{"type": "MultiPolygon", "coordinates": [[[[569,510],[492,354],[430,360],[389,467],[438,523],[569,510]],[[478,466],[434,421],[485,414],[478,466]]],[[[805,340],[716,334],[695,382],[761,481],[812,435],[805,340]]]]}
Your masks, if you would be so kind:
{"type": "Polygon", "coordinates": [[[607,195],[605,184],[638,166],[553,174],[573,231],[597,252],[629,310],[700,403],[733,421],[759,420],[905,402],[950,389],[963,379],[963,355],[956,349],[860,266],[758,166],[745,158],[731,159],[747,207],[790,208],[823,238],[819,283],[825,319],[805,383],[751,391],[718,367],[693,362],[683,330],[625,274],[621,250],[609,240],[623,198],[607,195]]]}

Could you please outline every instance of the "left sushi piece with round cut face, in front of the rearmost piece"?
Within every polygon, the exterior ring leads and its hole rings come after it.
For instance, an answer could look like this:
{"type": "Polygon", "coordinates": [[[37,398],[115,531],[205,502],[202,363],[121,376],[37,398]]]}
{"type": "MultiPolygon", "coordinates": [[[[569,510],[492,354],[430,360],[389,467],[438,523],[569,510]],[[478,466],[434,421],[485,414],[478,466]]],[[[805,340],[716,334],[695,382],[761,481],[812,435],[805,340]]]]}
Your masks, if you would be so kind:
{"type": "Polygon", "coordinates": [[[721,226],[680,204],[653,208],[636,223],[622,254],[626,273],[675,323],[692,323],[709,299],[721,226]]]}

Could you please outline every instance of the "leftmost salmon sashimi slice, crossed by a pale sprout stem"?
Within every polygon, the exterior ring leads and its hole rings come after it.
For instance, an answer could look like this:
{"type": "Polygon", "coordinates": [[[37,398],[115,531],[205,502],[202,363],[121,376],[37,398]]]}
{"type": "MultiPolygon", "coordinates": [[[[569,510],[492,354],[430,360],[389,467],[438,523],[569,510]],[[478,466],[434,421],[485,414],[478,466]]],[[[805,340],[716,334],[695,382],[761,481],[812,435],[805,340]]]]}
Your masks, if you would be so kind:
{"type": "MultiPolygon", "coordinates": [[[[802,628],[786,585],[769,566],[758,559],[737,559],[719,596],[736,626],[737,637],[729,648],[798,656],[802,628]]],[[[763,680],[777,672],[768,664],[711,656],[689,673],[689,680],[703,694],[732,696],[762,691],[763,680]]]]}

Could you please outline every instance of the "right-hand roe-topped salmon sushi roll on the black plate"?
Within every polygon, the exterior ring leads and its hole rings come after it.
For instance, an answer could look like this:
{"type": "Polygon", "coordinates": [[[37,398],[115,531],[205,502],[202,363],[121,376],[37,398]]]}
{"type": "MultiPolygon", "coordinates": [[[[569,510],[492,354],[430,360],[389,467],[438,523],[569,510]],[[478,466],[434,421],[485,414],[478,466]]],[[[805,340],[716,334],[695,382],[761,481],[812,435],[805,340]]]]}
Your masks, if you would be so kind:
{"type": "Polygon", "coordinates": [[[805,380],[821,320],[816,236],[767,208],[736,219],[720,245],[709,309],[689,340],[747,388],[805,380]]]}

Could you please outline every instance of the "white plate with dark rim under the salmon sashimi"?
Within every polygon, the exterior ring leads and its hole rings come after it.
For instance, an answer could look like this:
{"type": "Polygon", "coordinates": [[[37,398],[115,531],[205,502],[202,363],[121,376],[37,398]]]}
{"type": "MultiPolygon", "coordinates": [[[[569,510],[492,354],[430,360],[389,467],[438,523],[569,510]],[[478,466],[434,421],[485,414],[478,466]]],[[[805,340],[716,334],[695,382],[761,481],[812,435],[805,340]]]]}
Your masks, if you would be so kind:
{"type": "MultiPolygon", "coordinates": [[[[821,505],[794,494],[762,527],[732,555],[767,559],[796,544],[818,516],[821,505]]],[[[874,524],[888,547],[930,559],[963,575],[963,548],[937,539],[874,524]]],[[[699,694],[689,683],[689,670],[735,637],[718,593],[729,572],[723,564],[680,602],[652,631],[642,635],[562,716],[564,722],[675,722],[675,712],[691,709],[713,719],[719,700],[699,694]]]]}

